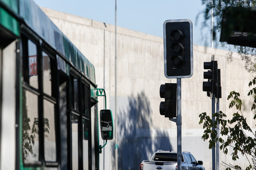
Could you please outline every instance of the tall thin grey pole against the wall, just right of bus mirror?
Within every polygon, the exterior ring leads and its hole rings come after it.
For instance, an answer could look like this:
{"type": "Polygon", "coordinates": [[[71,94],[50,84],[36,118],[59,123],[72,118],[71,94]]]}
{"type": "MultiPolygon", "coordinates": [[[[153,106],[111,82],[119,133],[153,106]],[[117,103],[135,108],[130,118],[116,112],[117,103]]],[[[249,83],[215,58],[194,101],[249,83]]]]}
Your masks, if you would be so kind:
{"type": "Polygon", "coordinates": [[[115,169],[118,170],[118,136],[117,136],[117,34],[116,34],[116,4],[115,4],[115,169]]]}

